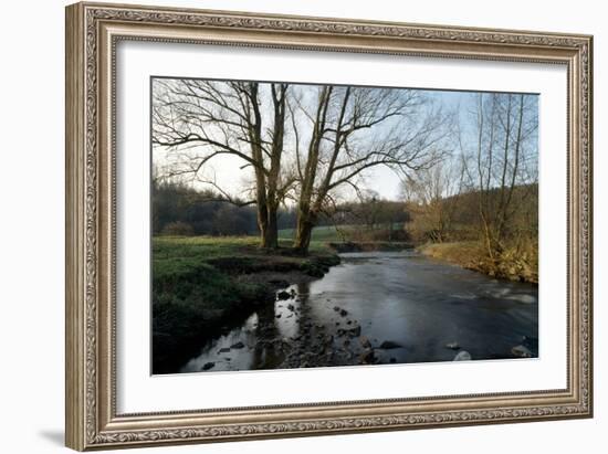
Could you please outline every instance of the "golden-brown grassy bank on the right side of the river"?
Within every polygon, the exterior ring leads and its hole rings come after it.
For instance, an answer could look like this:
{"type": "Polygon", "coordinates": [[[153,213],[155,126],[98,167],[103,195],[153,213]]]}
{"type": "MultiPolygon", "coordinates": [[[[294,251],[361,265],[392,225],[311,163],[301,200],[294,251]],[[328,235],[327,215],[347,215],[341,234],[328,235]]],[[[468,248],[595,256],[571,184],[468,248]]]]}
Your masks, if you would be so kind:
{"type": "Polygon", "coordinates": [[[496,261],[491,261],[483,245],[476,241],[427,243],[417,250],[427,256],[489,276],[538,283],[538,249],[533,245],[506,247],[496,261]]]}

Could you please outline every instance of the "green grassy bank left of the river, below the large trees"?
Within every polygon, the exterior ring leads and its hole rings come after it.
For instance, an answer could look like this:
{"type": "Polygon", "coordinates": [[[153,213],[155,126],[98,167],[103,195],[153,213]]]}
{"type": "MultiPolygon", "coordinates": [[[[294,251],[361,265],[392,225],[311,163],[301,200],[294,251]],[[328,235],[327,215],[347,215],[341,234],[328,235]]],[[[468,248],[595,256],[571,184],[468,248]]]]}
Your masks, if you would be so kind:
{"type": "Polygon", "coordinates": [[[256,237],[153,240],[154,372],[174,369],[200,341],[274,302],[276,288],[323,276],[339,257],[314,242],[307,257],[268,253],[256,237]]]}

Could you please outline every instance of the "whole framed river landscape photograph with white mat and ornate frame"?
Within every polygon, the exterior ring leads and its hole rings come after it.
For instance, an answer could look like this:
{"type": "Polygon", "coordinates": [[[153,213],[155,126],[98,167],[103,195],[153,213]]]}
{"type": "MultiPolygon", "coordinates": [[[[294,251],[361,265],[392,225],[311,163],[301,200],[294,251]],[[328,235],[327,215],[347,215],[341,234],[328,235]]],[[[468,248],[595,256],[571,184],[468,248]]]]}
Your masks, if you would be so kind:
{"type": "Polygon", "coordinates": [[[67,7],[67,446],[590,418],[591,43],[67,7]]]}

